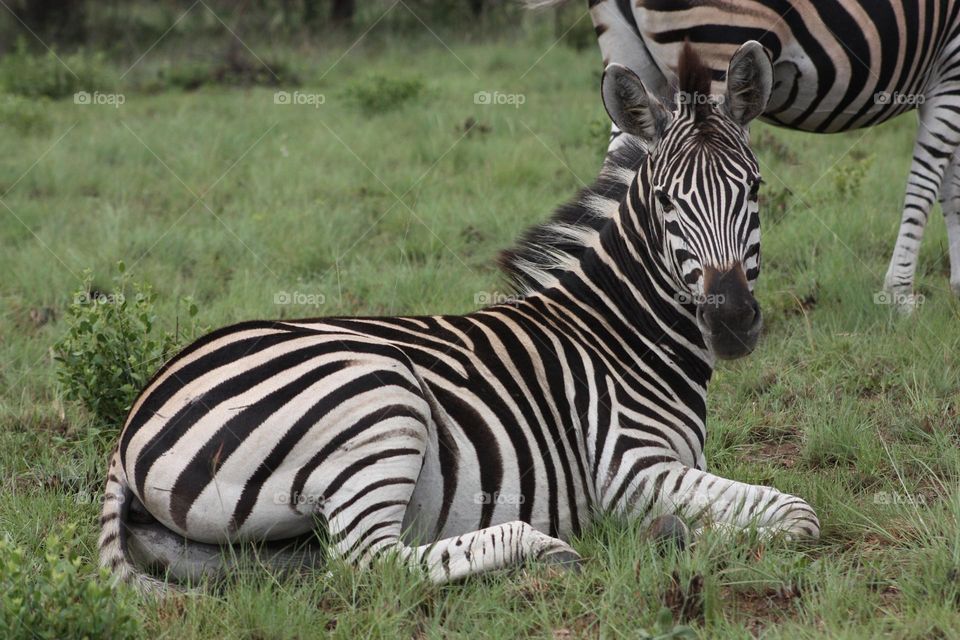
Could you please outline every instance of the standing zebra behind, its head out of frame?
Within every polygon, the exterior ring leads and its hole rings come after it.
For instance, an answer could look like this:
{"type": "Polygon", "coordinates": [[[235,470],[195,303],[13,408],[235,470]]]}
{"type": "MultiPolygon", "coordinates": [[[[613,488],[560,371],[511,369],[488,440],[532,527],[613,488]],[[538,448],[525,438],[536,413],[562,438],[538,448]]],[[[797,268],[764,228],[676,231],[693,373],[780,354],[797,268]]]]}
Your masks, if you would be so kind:
{"type": "MultiPolygon", "coordinates": [[[[565,0],[532,0],[531,6],[565,0]]],[[[900,230],[884,276],[885,296],[904,312],[935,200],[947,227],[950,287],[960,296],[960,1],[957,0],[590,0],[604,66],[633,69],[650,90],[691,42],[722,94],[723,64],[737,44],[759,41],[774,60],[762,119],[834,133],[871,127],[917,109],[919,128],[900,230]]],[[[610,150],[622,143],[612,128],[610,150]]]]}

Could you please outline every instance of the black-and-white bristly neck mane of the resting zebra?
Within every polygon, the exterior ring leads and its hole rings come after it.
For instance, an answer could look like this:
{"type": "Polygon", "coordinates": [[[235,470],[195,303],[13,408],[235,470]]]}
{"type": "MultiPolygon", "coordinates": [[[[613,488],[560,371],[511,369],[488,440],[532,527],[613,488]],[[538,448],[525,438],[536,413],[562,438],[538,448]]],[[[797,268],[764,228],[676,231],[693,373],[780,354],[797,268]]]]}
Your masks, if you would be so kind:
{"type": "Polygon", "coordinates": [[[579,263],[614,216],[647,156],[639,139],[623,137],[624,144],[607,155],[592,185],[558,207],[547,222],[527,229],[512,249],[501,252],[499,266],[517,293],[529,294],[555,284],[579,263]]]}

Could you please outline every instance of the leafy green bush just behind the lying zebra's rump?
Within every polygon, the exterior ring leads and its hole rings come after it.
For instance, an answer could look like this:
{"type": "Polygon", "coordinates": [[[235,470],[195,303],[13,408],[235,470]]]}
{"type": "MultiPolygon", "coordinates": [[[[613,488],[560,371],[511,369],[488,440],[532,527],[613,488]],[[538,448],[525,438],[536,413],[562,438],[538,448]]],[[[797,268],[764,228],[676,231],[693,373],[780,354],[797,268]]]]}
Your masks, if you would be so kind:
{"type": "Polygon", "coordinates": [[[154,312],[156,294],[143,284],[131,284],[123,263],[118,265],[111,293],[84,288],[67,310],[69,327],[57,343],[57,378],[67,398],[78,400],[108,426],[119,427],[153,371],[184,341],[206,331],[198,325],[197,306],[184,298],[188,322],[175,332],[159,331],[154,312]]]}

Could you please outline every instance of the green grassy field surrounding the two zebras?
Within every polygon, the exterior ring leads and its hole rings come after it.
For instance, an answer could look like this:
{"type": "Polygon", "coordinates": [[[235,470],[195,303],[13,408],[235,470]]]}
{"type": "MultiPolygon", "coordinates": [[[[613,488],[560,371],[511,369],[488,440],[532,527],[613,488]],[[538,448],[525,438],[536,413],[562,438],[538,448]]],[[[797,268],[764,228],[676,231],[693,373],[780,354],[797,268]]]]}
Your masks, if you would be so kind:
{"type": "MultiPolygon", "coordinates": [[[[82,572],[96,555],[115,431],[64,399],[51,350],[84,269],[109,290],[124,261],[170,329],[184,295],[213,327],[466,312],[506,291],[497,251],[596,174],[607,121],[594,49],[549,38],[448,49],[425,36],[341,58],[348,44],[288,53],[300,82],[281,87],[286,104],[271,87],[121,84],[118,107],[5,107],[0,530],[28,560],[71,524],[82,572]],[[476,104],[476,92],[507,97],[476,104]]],[[[603,522],[574,543],[580,575],[532,567],[436,587],[391,566],[256,573],[208,596],[134,602],[140,633],[607,638],[683,623],[703,638],[957,637],[960,305],[939,213],[917,312],[874,298],[914,127],[906,116],[829,137],[753,131],[766,330],[715,375],[708,460],[808,500],[817,544],[708,536],[663,557],[636,526],[603,522]]]]}

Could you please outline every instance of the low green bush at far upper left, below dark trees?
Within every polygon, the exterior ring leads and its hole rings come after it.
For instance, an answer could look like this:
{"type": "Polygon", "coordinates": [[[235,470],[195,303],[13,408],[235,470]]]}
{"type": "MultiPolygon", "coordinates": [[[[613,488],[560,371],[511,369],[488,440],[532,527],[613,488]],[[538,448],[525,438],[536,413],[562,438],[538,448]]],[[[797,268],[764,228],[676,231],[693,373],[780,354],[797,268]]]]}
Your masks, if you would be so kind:
{"type": "Polygon", "coordinates": [[[112,83],[103,54],[37,54],[21,39],[14,51],[0,59],[0,86],[9,93],[30,98],[63,98],[78,91],[106,90],[112,83]]]}

